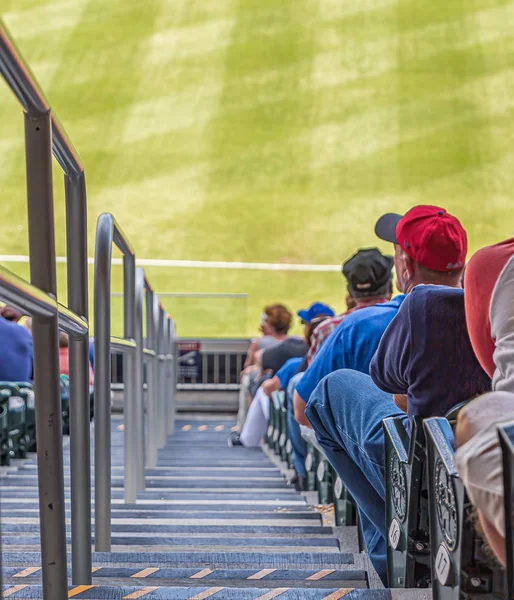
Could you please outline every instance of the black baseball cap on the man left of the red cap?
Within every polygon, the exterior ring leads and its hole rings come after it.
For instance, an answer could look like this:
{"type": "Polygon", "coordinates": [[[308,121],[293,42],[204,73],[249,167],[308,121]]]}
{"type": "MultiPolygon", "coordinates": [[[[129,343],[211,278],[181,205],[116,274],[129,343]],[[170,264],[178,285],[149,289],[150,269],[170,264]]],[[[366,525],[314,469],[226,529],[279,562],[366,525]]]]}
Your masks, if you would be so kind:
{"type": "Polygon", "coordinates": [[[373,296],[391,279],[394,260],[378,248],[362,248],[343,264],[343,275],[350,292],[373,296]]]}

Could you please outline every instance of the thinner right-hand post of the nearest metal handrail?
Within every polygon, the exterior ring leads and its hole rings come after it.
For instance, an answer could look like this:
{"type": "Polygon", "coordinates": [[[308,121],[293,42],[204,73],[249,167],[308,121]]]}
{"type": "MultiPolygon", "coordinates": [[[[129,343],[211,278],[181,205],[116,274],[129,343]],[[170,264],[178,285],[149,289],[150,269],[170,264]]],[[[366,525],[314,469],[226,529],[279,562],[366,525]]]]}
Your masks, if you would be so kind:
{"type": "MultiPolygon", "coordinates": [[[[68,307],[88,318],[87,202],[84,173],[64,176],[68,307]]],[[[91,584],[89,344],[70,338],[70,478],[72,583],[91,584]]]]}

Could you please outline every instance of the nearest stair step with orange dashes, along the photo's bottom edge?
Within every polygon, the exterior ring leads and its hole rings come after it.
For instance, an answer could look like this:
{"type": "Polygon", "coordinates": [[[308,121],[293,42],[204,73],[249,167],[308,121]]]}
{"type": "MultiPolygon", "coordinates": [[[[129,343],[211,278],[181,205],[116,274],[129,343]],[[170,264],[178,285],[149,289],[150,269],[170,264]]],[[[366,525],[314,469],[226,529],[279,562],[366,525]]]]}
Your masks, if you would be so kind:
{"type": "MultiPolygon", "coordinates": [[[[77,600],[122,600],[144,598],[145,600],[391,600],[389,590],[352,588],[301,589],[301,588],[228,588],[228,587],[157,587],[157,586],[72,586],[69,597],[77,600]]],[[[4,586],[4,597],[43,598],[43,589],[37,585],[4,586]]]]}

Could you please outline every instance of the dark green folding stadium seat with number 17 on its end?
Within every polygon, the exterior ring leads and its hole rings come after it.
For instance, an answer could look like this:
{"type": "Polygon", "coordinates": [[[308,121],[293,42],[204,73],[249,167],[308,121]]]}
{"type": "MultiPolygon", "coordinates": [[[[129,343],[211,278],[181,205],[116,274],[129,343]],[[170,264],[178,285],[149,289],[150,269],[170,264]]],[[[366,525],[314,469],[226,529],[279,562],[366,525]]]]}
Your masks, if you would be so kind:
{"type": "Polygon", "coordinates": [[[503,570],[487,556],[474,525],[474,508],[456,469],[451,425],[445,418],[433,417],[425,420],[424,429],[433,597],[504,598],[503,570]]]}

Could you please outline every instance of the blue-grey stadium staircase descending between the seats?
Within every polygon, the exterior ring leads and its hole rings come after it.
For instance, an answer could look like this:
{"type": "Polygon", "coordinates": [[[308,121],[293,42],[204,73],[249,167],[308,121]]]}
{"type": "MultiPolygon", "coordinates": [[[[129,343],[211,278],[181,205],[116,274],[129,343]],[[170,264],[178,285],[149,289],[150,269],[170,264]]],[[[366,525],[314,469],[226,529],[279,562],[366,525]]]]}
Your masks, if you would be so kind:
{"type": "MultiPolygon", "coordinates": [[[[123,425],[113,418],[113,551],[94,553],[93,585],[70,583],[70,598],[430,598],[378,589],[355,528],[326,526],[262,450],[228,448],[233,425],[181,417],[157,468],[147,471],[147,491],[127,505],[123,425]]],[[[4,598],[42,598],[36,469],[32,458],[0,477],[4,598]]],[[[69,507],[68,491],[66,498],[69,507]]]]}

